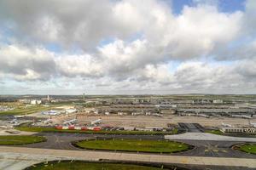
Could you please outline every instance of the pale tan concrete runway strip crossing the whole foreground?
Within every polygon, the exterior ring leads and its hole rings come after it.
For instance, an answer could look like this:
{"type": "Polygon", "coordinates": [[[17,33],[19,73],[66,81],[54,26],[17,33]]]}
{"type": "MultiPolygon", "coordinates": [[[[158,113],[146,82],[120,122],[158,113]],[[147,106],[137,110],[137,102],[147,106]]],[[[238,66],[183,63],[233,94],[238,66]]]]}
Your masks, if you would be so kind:
{"type": "MultiPolygon", "coordinates": [[[[196,166],[196,169],[206,170],[230,170],[230,169],[255,169],[255,159],[205,157],[205,156],[166,156],[155,154],[118,153],[102,151],[81,150],[49,150],[23,147],[0,146],[0,168],[5,170],[21,170],[38,162],[52,160],[83,160],[83,161],[137,161],[154,162],[162,164],[183,165],[186,167],[196,166]],[[230,166],[231,165],[231,166],[230,166]]],[[[195,168],[193,168],[195,169],[195,168]]]]}

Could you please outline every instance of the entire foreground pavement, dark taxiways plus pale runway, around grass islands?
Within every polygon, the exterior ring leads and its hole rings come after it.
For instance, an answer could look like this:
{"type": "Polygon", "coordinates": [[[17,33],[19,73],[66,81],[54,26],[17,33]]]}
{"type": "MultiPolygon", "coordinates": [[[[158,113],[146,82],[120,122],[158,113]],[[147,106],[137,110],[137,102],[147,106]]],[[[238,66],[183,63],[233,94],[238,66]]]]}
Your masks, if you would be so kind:
{"type": "Polygon", "coordinates": [[[103,135],[83,133],[38,133],[48,140],[37,144],[0,146],[0,169],[20,170],[42,161],[52,160],[113,160],[145,161],[173,164],[191,169],[256,169],[256,155],[230,149],[233,144],[254,139],[225,137],[208,133],[183,133],[170,136],[103,135]],[[142,154],[111,151],[81,150],[72,141],[95,138],[170,139],[195,145],[195,149],[173,154],[142,154]],[[232,166],[232,167],[230,167],[232,166]]]}

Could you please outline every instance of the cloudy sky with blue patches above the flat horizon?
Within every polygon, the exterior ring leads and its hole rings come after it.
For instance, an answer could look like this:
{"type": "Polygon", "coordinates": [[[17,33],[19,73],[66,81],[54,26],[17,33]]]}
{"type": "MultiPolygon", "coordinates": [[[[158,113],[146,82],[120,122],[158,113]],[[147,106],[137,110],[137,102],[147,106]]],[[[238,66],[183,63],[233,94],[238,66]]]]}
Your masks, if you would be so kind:
{"type": "Polygon", "coordinates": [[[255,0],[0,0],[0,94],[256,94],[255,0]]]}

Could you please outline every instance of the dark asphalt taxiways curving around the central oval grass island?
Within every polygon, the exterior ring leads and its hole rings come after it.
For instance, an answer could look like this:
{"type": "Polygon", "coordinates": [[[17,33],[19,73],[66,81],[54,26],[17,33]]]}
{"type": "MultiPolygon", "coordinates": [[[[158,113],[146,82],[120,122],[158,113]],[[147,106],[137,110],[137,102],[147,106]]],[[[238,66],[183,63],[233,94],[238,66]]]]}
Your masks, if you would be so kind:
{"type": "MultiPolygon", "coordinates": [[[[163,136],[147,135],[102,135],[102,134],[81,134],[81,133],[39,133],[48,140],[43,143],[25,144],[24,147],[55,149],[55,150],[81,150],[74,147],[71,142],[81,139],[96,138],[120,138],[120,139],[164,139],[163,136]]],[[[211,141],[211,140],[184,140],[174,139],[178,142],[194,145],[192,150],[173,153],[173,156],[208,156],[208,157],[237,157],[237,158],[255,158],[256,155],[247,154],[238,150],[232,150],[230,147],[234,144],[240,144],[237,141],[211,141]]],[[[18,147],[18,146],[17,146],[18,147]]]]}

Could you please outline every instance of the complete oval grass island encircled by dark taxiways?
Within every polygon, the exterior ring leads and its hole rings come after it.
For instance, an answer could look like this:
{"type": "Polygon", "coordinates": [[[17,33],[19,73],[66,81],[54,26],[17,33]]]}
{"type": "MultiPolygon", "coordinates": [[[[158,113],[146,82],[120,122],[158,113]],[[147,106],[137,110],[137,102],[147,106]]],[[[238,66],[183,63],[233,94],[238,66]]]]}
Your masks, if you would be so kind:
{"type": "Polygon", "coordinates": [[[121,150],[154,153],[172,153],[189,150],[188,144],[166,140],[138,140],[138,139],[97,139],[84,140],[75,143],[79,148],[90,150],[121,150]]]}

